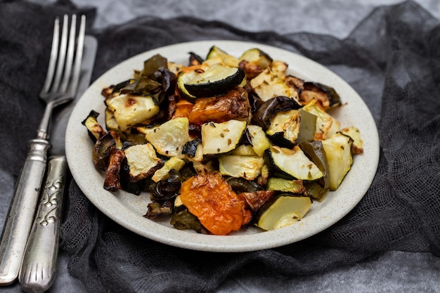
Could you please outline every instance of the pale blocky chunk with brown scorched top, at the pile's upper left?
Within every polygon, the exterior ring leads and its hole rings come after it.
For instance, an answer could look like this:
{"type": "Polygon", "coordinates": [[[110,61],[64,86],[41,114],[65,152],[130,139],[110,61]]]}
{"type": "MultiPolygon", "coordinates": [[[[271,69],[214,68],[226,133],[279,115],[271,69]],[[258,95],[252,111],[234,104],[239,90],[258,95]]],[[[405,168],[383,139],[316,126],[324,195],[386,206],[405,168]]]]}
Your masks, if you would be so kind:
{"type": "Polygon", "coordinates": [[[105,101],[107,107],[115,115],[121,131],[150,119],[159,112],[159,106],[151,96],[133,96],[124,94],[105,101]]]}

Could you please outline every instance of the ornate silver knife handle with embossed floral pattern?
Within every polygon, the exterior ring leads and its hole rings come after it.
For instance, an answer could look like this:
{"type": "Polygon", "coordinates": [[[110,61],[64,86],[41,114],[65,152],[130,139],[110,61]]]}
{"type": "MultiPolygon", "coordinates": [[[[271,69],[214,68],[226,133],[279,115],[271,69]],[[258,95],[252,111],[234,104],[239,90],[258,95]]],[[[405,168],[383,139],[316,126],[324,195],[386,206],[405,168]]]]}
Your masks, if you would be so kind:
{"type": "Polygon", "coordinates": [[[55,279],[66,172],[65,157],[51,157],[18,277],[25,292],[44,292],[55,279]]]}

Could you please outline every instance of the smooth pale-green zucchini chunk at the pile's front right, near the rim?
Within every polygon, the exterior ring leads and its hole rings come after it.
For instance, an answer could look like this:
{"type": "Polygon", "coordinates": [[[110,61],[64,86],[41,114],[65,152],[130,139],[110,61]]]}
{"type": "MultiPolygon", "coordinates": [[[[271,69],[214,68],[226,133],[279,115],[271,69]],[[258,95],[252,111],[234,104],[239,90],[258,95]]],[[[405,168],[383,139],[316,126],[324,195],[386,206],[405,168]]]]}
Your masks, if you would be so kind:
{"type": "Polygon", "coordinates": [[[301,220],[311,207],[309,197],[280,196],[259,216],[257,226],[263,230],[274,230],[290,226],[301,220]]]}

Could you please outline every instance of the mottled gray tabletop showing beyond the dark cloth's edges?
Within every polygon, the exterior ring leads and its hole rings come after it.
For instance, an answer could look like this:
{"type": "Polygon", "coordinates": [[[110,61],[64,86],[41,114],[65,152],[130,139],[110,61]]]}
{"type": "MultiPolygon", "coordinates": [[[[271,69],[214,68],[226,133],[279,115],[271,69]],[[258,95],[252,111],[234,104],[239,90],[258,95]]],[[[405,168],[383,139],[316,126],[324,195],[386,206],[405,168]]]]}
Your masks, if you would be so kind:
{"type": "MultiPolygon", "coordinates": [[[[54,0],[31,0],[48,4],[54,0]]],[[[399,0],[72,0],[78,6],[95,6],[98,15],[94,27],[127,22],[141,15],[172,18],[192,15],[204,20],[221,20],[242,30],[271,30],[281,34],[314,32],[347,37],[358,22],[375,6],[397,4],[399,0]],[[288,7],[288,8],[286,8],[288,7]],[[302,15],[297,18],[296,15],[302,15]]],[[[439,0],[418,0],[436,18],[440,18],[439,0]]],[[[7,207],[1,208],[3,226],[7,207]]],[[[67,271],[67,255],[61,254],[58,275],[52,293],[87,292],[79,280],[67,271]]],[[[288,292],[440,292],[440,259],[427,253],[386,252],[375,259],[343,266],[318,275],[284,280],[288,292]],[[287,286],[286,286],[287,288],[287,286]]],[[[22,292],[20,285],[0,287],[0,292],[22,292]]],[[[216,291],[271,292],[264,280],[252,282],[245,276],[229,278],[216,291]]]]}

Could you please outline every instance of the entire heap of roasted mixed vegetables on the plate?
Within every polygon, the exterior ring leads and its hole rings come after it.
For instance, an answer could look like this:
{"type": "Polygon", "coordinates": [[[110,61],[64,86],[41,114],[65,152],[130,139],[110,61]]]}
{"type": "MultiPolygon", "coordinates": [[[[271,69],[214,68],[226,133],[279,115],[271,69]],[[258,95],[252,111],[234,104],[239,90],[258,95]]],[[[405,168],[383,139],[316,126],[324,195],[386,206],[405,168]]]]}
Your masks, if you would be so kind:
{"type": "Polygon", "coordinates": [[[105,190],[150,193],[145,217],[178,229],[291,225],[363,152],[358,129],[328,114],[341,105],[335,89],[258,48],[236,58],[212,46],[185,65],[156,55],[102,94],[105,127],[93,110],[82,123],[105,190]]]}

